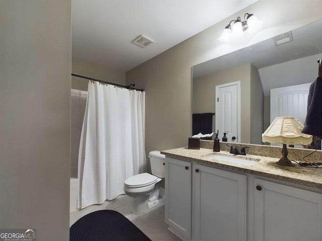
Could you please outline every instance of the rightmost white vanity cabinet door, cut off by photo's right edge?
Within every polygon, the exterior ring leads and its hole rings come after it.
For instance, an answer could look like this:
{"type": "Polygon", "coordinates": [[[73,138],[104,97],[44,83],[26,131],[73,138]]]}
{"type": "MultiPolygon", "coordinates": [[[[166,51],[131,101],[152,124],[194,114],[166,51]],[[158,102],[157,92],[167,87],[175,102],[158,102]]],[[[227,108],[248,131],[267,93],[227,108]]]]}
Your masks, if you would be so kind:
{"type": "Polygon", "coordinates": [[[257,178],[254,189],[254,240],[322,240],[322,194],[257,178]]]}

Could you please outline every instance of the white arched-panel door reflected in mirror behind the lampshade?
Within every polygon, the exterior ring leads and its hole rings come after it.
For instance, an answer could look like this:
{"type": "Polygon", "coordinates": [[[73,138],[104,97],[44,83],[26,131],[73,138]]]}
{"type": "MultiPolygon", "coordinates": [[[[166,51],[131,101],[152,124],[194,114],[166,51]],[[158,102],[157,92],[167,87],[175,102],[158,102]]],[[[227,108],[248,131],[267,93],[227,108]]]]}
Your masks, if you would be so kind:
{"type": "Polygon", "coordinates": [[[278,116],[293,116],[304,124],[311,83],[271,89],[271,123],[278,116]]]}

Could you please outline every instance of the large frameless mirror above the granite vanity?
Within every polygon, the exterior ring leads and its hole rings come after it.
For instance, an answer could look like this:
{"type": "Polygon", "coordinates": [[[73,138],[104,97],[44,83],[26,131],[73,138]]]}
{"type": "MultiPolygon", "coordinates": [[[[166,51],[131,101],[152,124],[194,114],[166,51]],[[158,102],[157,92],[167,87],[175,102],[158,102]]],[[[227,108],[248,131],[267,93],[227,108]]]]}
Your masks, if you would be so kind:
{"type": "Polygon", "coordinates": [[[238,142],[262,144],[261,135],[270,125],[270,90],[316,79],[316,61],[322,57],[321,29],[322,20],[193,66],[192,113],[216,113],[215,86],[239,80],[238,142]]]}

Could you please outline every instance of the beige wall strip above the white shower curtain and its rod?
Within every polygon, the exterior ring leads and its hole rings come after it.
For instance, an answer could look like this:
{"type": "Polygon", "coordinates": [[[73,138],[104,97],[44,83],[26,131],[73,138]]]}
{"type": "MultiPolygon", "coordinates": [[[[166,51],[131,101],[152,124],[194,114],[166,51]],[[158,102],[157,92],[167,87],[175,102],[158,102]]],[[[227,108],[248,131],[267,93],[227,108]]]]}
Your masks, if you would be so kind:
{"type": "MultiPolygon", "coordinates": [[[[125,85],[125,72],[106,67],[97,63],[72,57],[71,72],[73,74],[83,75],[90,78],[100,79],[103,81],[125,85]]],[[[72,76],[71,88],[86,90],[88,89],[89,80],[72,76]]]]}

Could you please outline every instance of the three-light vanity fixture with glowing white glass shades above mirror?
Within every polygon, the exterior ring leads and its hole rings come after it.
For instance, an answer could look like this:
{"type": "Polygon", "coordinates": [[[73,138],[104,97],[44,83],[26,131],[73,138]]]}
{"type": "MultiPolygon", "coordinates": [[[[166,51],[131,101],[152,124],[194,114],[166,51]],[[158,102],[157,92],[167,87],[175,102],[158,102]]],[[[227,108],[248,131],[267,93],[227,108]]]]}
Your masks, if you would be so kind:
{"type": "Polygon", "coordinates": [[[230,38],[238,38],[243,36],[244,32],[248,30],[249,33],[254,33],[263,24],[254,14],[246,13],[244,21],[241,22],[240,17],[236,20],[231,20],[225,27],[219,40],[222,42],[229,42],[230,38]],[[231,23],[232,27],[231,27],[231,23]]]}

